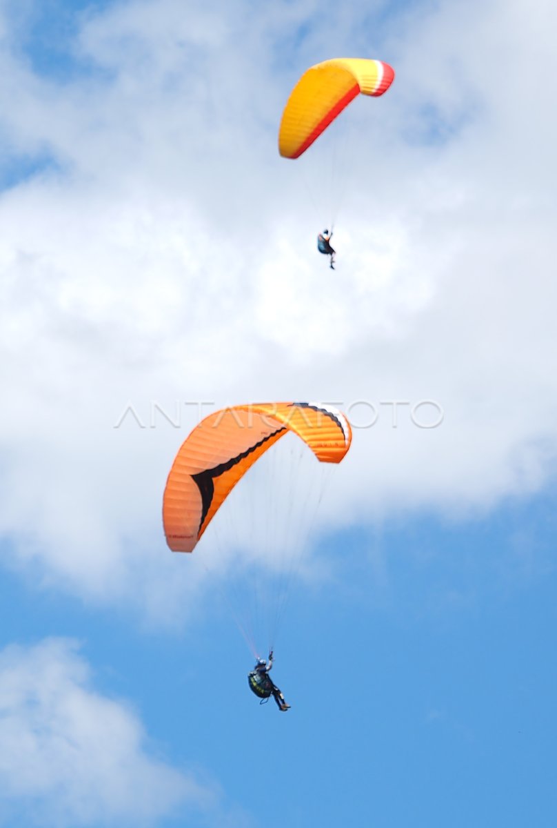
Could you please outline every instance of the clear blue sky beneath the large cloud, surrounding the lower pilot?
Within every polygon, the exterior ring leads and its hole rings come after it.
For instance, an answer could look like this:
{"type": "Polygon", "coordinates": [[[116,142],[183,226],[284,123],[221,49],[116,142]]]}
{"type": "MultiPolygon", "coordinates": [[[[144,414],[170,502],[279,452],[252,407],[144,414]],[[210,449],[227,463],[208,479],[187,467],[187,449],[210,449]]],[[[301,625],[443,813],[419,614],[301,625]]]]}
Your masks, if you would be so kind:
{"type": "Polygon", "coordinates": [[[553,502],[502,508],[472,527],[416,521],[380,540],[354,532],[337,588],[292,601],[276,664],[288,719],[247,691],[247,651],[218,609],[188,633],[146,633],[5,578],[2,628],[22,645],[46,629],[79,638],[98,691],[132,703],[151,750],[217,780],[219,807],[244,811],[240,824],[266,802],[271,826],[518,826],[534,800],[536,824],[550,826],[555,571],[525,564],[515,537],[550,557],[553,502]],[[376,599],[356,554],[377,545],[389,562],[376,599]],[[418,545],[427,560],[413,557],[418,545]]]}

